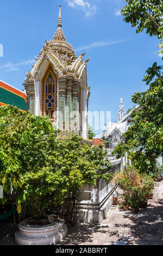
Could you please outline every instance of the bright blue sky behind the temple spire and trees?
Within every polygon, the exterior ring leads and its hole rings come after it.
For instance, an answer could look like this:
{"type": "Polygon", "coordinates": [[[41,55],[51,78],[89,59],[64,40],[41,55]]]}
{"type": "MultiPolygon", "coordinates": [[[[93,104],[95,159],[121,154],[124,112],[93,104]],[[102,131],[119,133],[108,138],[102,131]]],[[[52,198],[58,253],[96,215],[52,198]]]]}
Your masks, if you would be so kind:
{"type": "MultiPolygon", "coordinates": [[[[62,29],[79,56],[86,50],[90,111],[111,111],[116,121],[122,95],[126,111],[131,95],[144,91],[145,70],[158,62],[159,41],[123,21],[123,0],[5,0],[0,8],[0,80],[22,90],[23,78],[45,38],[52,39],[61,4],[62,29]]],[[[97,132],[97,131],[96,131],[97,132]]]]}

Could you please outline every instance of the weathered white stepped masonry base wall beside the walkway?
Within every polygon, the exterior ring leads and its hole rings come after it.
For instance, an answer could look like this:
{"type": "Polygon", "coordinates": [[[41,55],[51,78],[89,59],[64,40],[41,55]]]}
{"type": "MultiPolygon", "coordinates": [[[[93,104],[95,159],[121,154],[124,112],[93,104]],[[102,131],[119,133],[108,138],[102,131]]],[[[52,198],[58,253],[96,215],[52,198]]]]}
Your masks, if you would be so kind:
{"type": "MultiPolygon", "coordinates": [[[[121,169],[121,159],[112,162],[112,171],[121,169]]],[[[110,170],[111,171],[111,170],[110,170]]],[[[117,196],[118,188],[112,182],[103,179],[94,186],[84,185],[78,198],[78,221],[101,222],[112,205],[112,198],[117,196]]]]}

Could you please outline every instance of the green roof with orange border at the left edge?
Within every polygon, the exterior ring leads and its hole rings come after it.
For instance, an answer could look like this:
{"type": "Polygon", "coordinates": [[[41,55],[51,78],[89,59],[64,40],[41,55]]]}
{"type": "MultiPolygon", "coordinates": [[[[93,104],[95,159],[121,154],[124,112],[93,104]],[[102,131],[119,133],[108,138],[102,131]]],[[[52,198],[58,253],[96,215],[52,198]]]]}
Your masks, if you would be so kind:
{"type": "Polygon", "coordinates": [[[0,80],[0,106],[2,105],[11,105],[26,112],[26,93],[0,80]]]}

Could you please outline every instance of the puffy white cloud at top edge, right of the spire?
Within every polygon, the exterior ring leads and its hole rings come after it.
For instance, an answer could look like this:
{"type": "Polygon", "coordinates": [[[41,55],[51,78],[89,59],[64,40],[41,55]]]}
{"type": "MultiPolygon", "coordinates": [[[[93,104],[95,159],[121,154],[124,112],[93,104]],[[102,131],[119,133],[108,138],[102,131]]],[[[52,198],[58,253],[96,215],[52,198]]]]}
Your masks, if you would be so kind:
{"type": "Polygon", "coordinates": [[[92,16],[96,13],[96,5],[91,5],[85,0],[66,0],[72,8],[80,8],[85,12],[85,16],[92,16]]]}

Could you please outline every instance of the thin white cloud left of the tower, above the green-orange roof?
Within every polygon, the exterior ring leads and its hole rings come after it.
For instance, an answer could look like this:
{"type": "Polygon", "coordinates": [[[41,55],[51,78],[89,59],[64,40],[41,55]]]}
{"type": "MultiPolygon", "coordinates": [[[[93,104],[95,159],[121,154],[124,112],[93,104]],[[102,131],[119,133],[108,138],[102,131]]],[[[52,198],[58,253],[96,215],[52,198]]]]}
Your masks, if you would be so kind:
{"type": "Polygon", "coordinates": [[[7,64],[0,66],[0,73],[17,71],[21,66],[29,66],[31,62],[35,62],[35,60],[26,60],[15,64],[8,62],[7,64]]]}

